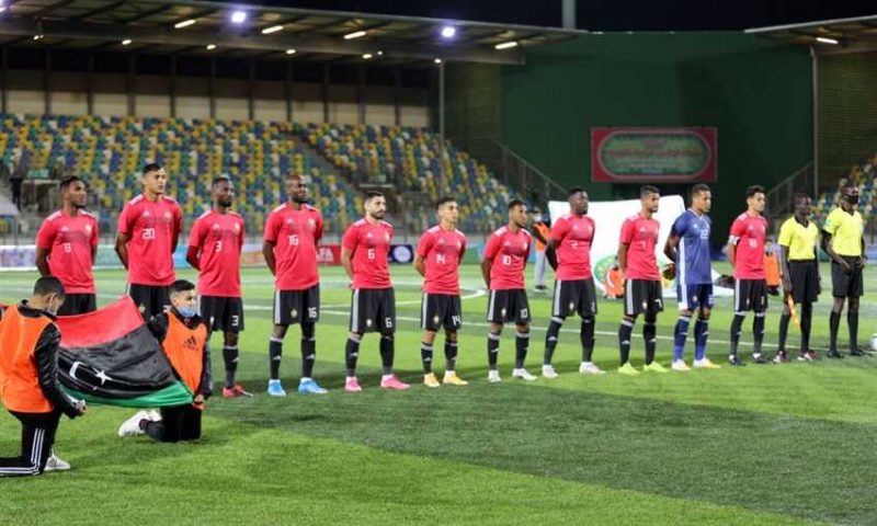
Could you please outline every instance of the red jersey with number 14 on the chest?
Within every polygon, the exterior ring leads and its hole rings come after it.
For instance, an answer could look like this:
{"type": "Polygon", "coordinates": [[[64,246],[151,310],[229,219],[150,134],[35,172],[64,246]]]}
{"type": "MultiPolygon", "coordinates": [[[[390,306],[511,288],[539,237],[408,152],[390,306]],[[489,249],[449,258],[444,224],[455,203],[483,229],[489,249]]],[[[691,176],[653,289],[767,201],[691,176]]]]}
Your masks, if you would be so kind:
{"type": "Polygon", "coordinates": [[[418,242],[418,255],[423,258],[426,294],[459,294],[459,262],[466,253],[466,236],[457,229],[445,230],[440,226],[423,232],[418,242]]]}

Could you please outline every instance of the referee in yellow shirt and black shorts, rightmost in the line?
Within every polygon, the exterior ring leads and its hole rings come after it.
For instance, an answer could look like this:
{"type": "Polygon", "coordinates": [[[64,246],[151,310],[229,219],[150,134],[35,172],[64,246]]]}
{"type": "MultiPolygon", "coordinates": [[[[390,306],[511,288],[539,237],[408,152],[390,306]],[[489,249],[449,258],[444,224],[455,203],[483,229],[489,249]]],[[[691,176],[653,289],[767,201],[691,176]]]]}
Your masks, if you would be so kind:
{"type": "Polygon", "coordinates": [[[864,294],[862,270],[865,267],[864,222],[856,209],[858,207],[858,186],[847,182],[841,188],[841,205],[829,214],[822,227],[822,249],[831,256],[831,288],[834,305],[831,307],[829,330],[830,358],[842,358],[838,352],[838,329],[841,324],[843,304],[846,311],[846,325],[850,329],[850,354],[865,356],[858,348],[858,298],[864,294]]]}

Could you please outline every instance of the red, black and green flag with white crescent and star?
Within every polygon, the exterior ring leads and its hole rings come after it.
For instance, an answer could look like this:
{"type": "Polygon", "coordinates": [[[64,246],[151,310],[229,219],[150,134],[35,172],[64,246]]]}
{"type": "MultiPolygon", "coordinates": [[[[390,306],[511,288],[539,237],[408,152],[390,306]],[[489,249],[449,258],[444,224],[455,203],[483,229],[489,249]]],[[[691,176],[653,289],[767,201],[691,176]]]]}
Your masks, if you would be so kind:
{"type": "Polygon", "coordinates": [[[192,402],[128,296],[94,312],[58,318],[58,377],[90,403],[161,408],[192,402]]]}

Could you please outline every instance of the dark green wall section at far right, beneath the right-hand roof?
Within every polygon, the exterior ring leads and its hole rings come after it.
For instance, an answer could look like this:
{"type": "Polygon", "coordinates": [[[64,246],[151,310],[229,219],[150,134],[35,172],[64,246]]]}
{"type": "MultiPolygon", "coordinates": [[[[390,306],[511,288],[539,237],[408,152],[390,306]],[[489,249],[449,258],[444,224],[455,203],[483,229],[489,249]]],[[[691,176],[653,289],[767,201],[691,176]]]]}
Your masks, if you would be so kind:
{"type": "Polygon", "coordinates": [[[877,57],[821,56],[819,175],[836,181],[877,149],[877,57]]]}

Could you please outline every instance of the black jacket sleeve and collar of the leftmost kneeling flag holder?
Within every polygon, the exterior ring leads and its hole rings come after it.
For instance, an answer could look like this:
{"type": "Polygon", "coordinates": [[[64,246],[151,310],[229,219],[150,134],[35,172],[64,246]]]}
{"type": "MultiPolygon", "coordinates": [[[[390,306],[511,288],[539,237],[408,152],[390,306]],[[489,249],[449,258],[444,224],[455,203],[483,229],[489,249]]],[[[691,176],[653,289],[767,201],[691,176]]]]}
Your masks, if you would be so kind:
{"type": "MultiPolygon", "coordinates": [[[[14,308],[19,309],[19,313],[25,318],[39,318],[45,316],[52,321],[57,319],[45,310],[30,307],[26,299],[23,299],[21,304],[16,305],[14,308]]],[[[79,409],[77,408],[78,400],[64,392],[60,384],[58,384],[58,347],[60,343],[61,332],[58,330],[58,325],[55,323],[46,325],[39,334],[39,339],[36,341],[36,348],[34,350],[36,374],[39,378],[39,388],[43,390],[43,396],[52,402],[55,410],[61,411],[67,416],[75,419],[79,416],[79,409]]]]}

